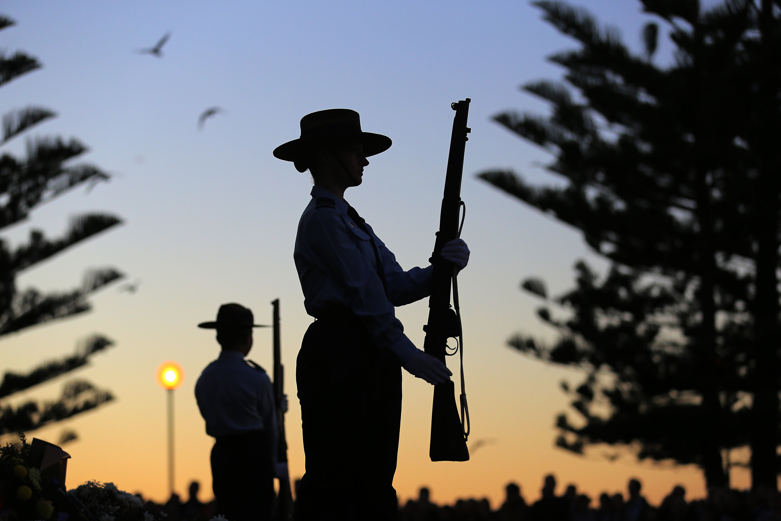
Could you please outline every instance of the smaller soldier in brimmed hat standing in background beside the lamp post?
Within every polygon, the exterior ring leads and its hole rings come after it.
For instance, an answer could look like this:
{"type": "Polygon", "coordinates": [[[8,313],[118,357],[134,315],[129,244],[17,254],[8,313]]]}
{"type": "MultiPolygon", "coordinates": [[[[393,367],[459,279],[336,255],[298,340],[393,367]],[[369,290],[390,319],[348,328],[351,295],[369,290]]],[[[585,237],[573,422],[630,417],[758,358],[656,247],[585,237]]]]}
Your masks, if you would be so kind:
{"type": "MultiPolygon", "coordinates": [[[[215,322],[219,358],[195,384],[198,409],[212,448],[212,488],[219,510],[230,521],[269,519],[274,476],[287,479],[287,464],[276,462],[276,412],[271,380],[261,366],[245,360],[252,348],[252,312],[238,304],[219,306],[215,322]]],[[[283,402],[287,409],[287,398],[283,402]]]]}

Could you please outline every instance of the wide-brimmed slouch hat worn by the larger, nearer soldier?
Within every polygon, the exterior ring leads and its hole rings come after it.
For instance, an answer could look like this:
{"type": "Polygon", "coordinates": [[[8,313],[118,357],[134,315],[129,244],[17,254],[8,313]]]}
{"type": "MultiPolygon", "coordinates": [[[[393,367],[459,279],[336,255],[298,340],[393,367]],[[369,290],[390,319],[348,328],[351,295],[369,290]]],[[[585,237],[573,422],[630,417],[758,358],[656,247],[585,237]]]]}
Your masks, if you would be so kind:
{"type": "Polygon", "coordinates": [[[355,110],[327,109],[301,118],[301,137],[287,141],[274,149],[274,157],[298,161],[308,145],[322,141],[356,141],[363,145],[363,155],[369,157],[391,148],[393,141],[382,134],[361,130],[361,116],[355,110]]]}

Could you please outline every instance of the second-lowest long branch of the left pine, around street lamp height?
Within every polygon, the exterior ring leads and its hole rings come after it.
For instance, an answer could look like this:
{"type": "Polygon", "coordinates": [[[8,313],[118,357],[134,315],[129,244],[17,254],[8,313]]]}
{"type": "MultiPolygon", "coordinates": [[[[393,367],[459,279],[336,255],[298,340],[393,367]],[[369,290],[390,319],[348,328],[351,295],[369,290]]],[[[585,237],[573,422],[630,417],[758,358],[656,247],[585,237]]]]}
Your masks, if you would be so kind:
{"type": "Polygon", "coordinates": [[[26,374],[8,371],[3,376],[2,382],[0,382],[0,398],[25,391],[30,387],[43,384],[58,376],[86,366],[92,355],[110,348],[113,344],[114,342],[106,337],[94,335],[84,341],[80,341],[73,355],[59,360],[43,362],[40,366],[26,374]]]}

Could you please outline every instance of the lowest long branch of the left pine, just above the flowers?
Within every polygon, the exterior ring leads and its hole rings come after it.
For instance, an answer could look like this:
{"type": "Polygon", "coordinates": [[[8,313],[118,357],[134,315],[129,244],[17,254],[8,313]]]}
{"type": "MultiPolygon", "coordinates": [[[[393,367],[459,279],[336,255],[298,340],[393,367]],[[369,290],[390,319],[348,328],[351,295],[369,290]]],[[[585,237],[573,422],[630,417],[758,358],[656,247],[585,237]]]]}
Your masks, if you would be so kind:
{"type": "Polygon", "coordinates": [[[71,380],[62,388],[57,401],[35,401],[14,408],[5,405],[0,408],[0,435],[18,432],[30,432],[50,423],[73,418],[112,401],[110,391],[102,391],[86,380],[71,380]]]}

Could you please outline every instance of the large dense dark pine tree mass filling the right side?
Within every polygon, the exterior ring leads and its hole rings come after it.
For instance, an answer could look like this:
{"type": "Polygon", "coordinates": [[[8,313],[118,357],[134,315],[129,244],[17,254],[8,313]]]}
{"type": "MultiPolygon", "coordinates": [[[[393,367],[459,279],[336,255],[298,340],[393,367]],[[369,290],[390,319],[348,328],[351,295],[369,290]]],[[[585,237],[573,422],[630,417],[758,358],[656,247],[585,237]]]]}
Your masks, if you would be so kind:
{"type": "MultiPolygon", "coordinates": [[[[761,9],[748,0],[707,11],[694,0],[642,3],[668,24],[676,45],[671,66],[654,65],[655,23],[642,32],[644,55],[633,55],[616,30],[600,28],[585,10],[535,2],[545,20],[580,42],[579,50],[551,61],[565,68],[583,102],[565,84],[534,82],[523,89],[551,102],[549,118],[508,111],[494,119],[551,152],[548,170],[567,186],[534,187],[506,170],[480,177],[582,230],[587,244],[613,264],[601,282],[588,266],[577,266],[576,289],[555,301],[569,309],[569,320],[540,310],[562,333],[555,345],[522,336],[511,342],[538,358],[587,369],[571,391],[581,425],[560,417],[558,444],[574,451],[632,446],[640,458],[696,462],[709,485],[722,485],[722,449],[756,435],[747,421],[747,396],[758,395],[754,382],[778,389],[775,355],[762,368],[754,356],[758,345],[778,345],[775,319],[761,332],[756,310],[767,297],[754,290],[757,252],[766,251],[761,244],[768,240],[762,230],[774,230],[766,234],[773,244],[778,238],[777,209],[757,201],[758,194],[772,199],[758,172],[773,156],[758,146],[756,119],[767,130],[778,121],[778,107],[767,99],[760,106],[763,100],[751,95],[774,85],[767,76],[778,70],[759,65],[768,63],[769,52],[755,49],[763,42],[761,9]],[[764,341],[752,341],[762,335],[764,341]]],[[[765,30],[777,32],[778,20],[769,25],[765,30]]],[[[776,172],[777,159],[770,161],[776,172]]],[[[776,252],[773,266],[778,260],[776,252]]],[[[523,286],[547,298],[540,280],[523,286]]],[[[777,309],[776,286],[769,287],[777,309]]],[[[756,399],[753,404],[756,417],[756,399]]],[[[775,453],[777,401],[774,407],[775,453]]],[[[770,484],[755,476],[760,483],[770,484]]]]}

